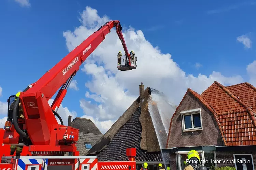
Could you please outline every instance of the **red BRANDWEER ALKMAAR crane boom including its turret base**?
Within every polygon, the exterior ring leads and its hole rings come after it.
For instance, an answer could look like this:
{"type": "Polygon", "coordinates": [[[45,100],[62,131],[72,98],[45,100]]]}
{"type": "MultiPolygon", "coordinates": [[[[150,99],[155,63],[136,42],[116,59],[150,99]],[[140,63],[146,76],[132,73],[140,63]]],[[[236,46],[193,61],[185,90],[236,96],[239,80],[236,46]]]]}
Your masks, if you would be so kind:
{"type": "Polygon", "coordinates": [[[120,22],[109,21],[20,94],[27,133],[33,145],[49,145],[51,126],[58,125],[52,110],[57,111],[79,66],[100,45],[113,27],[116,27],[125,54],[130,60],[120,22]],[[58,89],[60,90],[50,107],[48,100],[58,89]]]}

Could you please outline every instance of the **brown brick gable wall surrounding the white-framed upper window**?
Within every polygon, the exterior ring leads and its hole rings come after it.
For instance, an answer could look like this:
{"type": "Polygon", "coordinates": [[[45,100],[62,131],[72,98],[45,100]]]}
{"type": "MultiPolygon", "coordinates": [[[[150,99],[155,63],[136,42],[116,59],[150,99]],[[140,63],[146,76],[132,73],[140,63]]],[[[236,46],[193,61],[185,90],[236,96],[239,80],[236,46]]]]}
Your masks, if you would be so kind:
{"type": "Polygon", "coordinates": [[[222,146],[223,141],[213,114],[190,92],[173,117],[168,148],[186,146],[222,146]],[[182,132],[181,111],[201,108],[203,130],[182,132]],[[192,134],[192,132],[194,134],[192,134]]]}

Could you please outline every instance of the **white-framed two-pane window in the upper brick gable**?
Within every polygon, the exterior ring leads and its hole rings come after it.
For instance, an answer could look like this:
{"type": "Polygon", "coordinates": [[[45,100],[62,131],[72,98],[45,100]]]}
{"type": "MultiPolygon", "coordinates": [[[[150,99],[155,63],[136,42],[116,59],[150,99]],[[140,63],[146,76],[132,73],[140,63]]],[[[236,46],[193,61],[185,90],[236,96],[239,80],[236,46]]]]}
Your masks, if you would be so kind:
{"type": "Polygon", "coordinates": [[[188,111],[181,111],[182,116],[182,130],[202,130],[202,116],[201,108],[196,108],[188,111]]]}

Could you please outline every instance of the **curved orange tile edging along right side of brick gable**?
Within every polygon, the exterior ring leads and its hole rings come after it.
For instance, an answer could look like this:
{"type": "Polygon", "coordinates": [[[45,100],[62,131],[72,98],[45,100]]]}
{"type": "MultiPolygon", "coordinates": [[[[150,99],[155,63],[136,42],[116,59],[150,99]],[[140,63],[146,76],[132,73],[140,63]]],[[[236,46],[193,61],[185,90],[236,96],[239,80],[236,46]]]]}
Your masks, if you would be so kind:
{"type": "Polygon", "coordinates": [[[193,96],[195,96],[206,108],[209,109],[210,112],[212,112],[213,117],[214,117],[214,119],[215,119],[215,121],[216,121],[216,123],[217,123],[217,125],[219,127],[219,131],[221,133],[221,137],[222,137],[223,143],[224,143],[225,146],[227,146],[226,139],[225,139],[225,136],[224,136],[224,132],[222,130],[221,123],[219,122],[217,113],[214,111],[214,109],[211,107],[211,105],[208,104],[207,101],[205,101],[204,98],[201,95],[199,95],[197,92],[195,92],[194,90],[192,90],[190,88],[188,88],[187,91],[191,92],[191,94],[193,96]],[[199,95],[202,99],[199,99],[197,95],[199,95]]]}

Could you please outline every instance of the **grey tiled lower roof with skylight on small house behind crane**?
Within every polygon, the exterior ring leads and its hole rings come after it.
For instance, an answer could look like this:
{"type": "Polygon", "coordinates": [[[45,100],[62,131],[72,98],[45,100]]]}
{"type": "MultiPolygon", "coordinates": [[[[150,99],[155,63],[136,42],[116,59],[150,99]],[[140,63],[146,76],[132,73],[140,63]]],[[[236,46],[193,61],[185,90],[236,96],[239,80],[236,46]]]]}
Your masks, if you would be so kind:
{"type": "Polygon", "coordinates": [[[76,142],[77,151],[79,156],[85,156],[89,150],[86,150],[85,143],[91,143],[92,146],[103,136],[102,134],[92,134],[79,132],[78,141],[76,142]]]}

